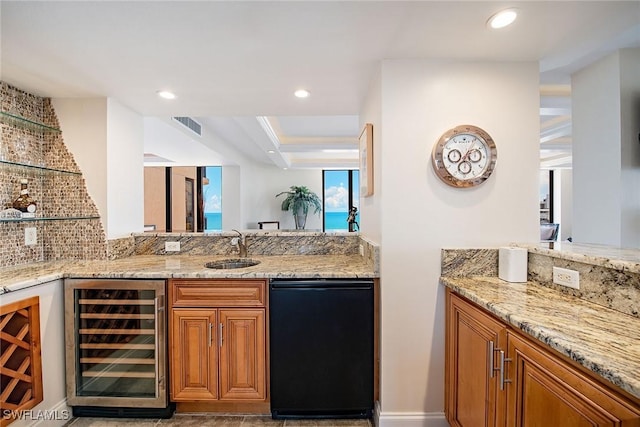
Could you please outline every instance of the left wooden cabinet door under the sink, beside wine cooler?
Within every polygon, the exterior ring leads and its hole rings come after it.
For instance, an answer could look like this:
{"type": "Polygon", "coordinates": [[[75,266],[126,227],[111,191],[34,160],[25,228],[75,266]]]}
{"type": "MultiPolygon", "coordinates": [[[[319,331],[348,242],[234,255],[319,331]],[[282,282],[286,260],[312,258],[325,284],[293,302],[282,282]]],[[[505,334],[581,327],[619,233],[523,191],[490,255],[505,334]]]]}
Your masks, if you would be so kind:
{"type": "Polygon", "coordinates": [[[171,400],[218,398],[217,310],[211,308],[172,311],[171,400]]]}

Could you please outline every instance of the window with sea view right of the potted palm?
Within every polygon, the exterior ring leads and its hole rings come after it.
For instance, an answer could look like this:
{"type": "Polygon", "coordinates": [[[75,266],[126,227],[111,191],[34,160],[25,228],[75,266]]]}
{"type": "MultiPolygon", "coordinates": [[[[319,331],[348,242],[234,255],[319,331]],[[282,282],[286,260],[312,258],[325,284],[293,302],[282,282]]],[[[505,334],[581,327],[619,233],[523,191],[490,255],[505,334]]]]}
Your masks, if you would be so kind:
{"type": "MultiPolygon", "coordinates": [[[[349,230],[347,218],[351,207],[360,207],[359,172],[325,170],[322,172],[322,182],[324,231],[357,231],[358,226],[355,224],[349,230]]],[[[356,215],[356,223],[360,224],[360,212],[356,215]]]]}

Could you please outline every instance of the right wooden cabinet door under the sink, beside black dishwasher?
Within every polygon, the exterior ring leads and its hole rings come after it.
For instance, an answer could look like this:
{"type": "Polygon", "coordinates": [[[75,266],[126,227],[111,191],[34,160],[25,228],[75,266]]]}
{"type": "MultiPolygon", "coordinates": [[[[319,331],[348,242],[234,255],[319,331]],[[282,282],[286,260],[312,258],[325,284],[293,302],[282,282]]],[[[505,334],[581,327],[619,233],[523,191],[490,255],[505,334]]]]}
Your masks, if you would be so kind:
{"type": "Polygon", "coordinates": [[[264,309],[220,309],[220,399],[266,398],[264,309]]]}

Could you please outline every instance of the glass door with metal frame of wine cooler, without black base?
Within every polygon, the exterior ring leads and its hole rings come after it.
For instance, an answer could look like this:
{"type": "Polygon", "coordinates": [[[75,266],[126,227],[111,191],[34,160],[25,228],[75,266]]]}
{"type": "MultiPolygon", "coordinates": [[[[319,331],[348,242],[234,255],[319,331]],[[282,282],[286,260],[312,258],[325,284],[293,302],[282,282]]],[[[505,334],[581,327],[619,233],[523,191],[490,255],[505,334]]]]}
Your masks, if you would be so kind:
{"type": "Polygon", "coordinates": [[[103,398],[105,406],[148,406],[144,402],[165,395],[160,387],[165,312],[159,306],[164,282],[161,296],[156,289],[101,285],[73,289],[76,400],[81,404],[86,398],[96,405],[93,398],[103,398]]]}

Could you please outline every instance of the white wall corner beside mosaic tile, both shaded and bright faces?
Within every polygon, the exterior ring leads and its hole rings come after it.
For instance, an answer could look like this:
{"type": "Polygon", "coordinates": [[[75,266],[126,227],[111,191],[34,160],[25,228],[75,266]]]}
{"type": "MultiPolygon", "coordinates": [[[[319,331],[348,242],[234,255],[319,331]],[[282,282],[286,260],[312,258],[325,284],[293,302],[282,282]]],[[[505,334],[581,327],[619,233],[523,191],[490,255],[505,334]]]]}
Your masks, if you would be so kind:
{"type": "Polygon", "coordinates": [[[57,98],[52,103],[107,239],[142,231],[142,116],[108,98],[57,98]]]}

